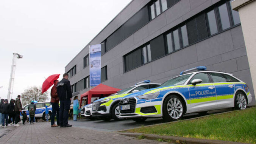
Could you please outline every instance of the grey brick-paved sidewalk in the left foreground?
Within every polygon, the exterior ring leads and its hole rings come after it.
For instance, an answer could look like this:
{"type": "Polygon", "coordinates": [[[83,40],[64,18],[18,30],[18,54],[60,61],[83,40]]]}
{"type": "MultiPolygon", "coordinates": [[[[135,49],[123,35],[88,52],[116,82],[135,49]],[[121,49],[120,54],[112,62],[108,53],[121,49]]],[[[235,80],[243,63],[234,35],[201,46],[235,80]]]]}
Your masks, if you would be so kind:
{"type": "Polygon", "coordinates": [[[119,135],[111,132],[100,132],[83,129],[79,127],[50,127],[50,122],[37,122],[36,124],[20,125],[15,130],[12,130],[12,132],[0,138],[0,144],[71,144],[74,142],[79,142],[81,144],[161,143],[159,141],[148,139],[139,140],[130,136],[119,135]]]}

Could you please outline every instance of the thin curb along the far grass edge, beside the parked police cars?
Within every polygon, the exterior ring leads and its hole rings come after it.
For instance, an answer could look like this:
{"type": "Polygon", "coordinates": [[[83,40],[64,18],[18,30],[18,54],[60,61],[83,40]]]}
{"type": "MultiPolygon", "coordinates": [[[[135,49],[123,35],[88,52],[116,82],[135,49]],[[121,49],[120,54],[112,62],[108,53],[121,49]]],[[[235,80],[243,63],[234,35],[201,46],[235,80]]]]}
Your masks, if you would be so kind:
{"type": "MultiPolygon", "coordinates": [[[[253,108],[253,107],[255,107],[255,106],[250,106],[250,107],[248,107],[246,109],[250,109],[250,108],[253,108]]],[[[229,109],[229,108],[225,108],[225,109],[229,109]]],[[[212,111],[217,111],[217,110],[212,110],[212,111]]],[[[189,120],[204,118],[204,117],[212,116],[212,115],[221,115],[221,114],[225,114],[225,113],[231,113],[233,111],[234,110],[225,111],[225,112],[221,112],[221,113],[215,113],[215,114],[210,114],[210,115],[205,115],[205,116],[199,116],[199,117],[196,117],[196,118],[183,119],[183,120],[180,120],[180,121],[171,121],[171,122],[163,122],[163,123],[160,123],[160,124],[145,125],[143,127],[151,127],[151,126],[155,126],[155,125],[162,125],[162,124],[170,124],[170,123],[175,123],[175,122],[189,121],[189,120]]],[[[236,110],[236,111],[240,111],[240,110],[236,110]]],[[[125,130],[117,130],[117,131],[114,131],[113,133],[119,133],[119,132],[123,132],[123,131],[126,131],[126,130],[139,129],[139,128],[142,128],[142,127],[136,127],[136,128],[131,128],[131,129],[125,129],[125,130]]]]}

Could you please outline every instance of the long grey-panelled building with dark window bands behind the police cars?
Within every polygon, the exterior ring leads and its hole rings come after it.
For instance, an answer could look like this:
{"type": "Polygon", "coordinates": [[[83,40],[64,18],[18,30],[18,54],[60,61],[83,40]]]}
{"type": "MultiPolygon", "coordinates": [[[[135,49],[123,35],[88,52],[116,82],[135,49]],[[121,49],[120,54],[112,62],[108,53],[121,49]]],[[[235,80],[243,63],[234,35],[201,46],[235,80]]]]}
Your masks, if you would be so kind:
{"type": "MultiPolygon", "coordinates": [[[[231,1],[133,0],[89,43],[103,43],[101,82],[121,89],[143,80],[163,83],[206,66],[234,74],[254,98],[239,14],[231,1]]],[[[89,44],[65,67],[72,91],[81,94],[89,90],[89,44]]]]}

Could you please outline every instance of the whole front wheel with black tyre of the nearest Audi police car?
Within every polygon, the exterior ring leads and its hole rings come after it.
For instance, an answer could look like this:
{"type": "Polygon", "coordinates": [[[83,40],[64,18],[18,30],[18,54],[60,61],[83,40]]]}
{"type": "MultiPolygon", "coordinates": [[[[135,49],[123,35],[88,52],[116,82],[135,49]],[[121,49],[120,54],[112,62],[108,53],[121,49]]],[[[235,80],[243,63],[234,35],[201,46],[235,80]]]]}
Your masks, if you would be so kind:
{"type": "Polygon", "coordinates": [[[176,121],[183,117],[184,104],[176,95],[167,96],[163,105],[163,119],[165,121],[176,121]]]}

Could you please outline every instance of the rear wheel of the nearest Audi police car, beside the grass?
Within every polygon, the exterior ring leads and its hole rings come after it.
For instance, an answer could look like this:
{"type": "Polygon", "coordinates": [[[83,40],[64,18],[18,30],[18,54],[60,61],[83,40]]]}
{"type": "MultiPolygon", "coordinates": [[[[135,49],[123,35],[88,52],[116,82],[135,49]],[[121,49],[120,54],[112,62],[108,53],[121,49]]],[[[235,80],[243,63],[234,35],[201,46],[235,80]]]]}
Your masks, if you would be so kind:
{"type": "Polygon", "coordinates": [[[244,93],[240,91],[236,93],[234,105],[237,110],[243,110],[247,107],[247,97],[244,93]]]}

